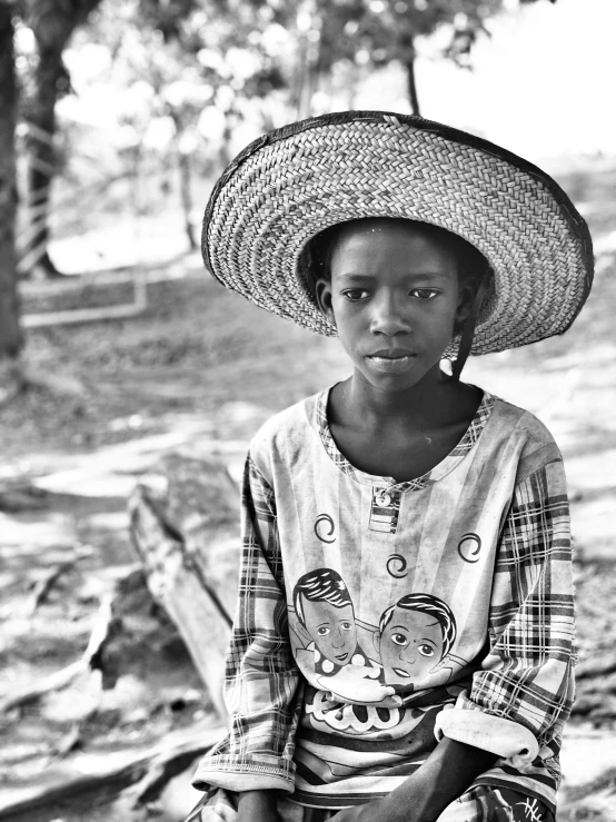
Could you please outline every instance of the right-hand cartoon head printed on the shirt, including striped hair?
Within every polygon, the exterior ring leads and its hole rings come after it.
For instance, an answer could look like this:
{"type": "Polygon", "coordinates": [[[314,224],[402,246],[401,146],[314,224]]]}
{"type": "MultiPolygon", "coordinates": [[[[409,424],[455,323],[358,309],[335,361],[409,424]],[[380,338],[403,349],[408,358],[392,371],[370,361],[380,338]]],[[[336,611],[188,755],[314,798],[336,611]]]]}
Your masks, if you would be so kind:
{"type": "Polygon", "coordinates": [[[430,594],[408,594],[385,611],[379,651],[388,685],[417,684],[449,653],[456,620],[449,606],[430,594]]]}

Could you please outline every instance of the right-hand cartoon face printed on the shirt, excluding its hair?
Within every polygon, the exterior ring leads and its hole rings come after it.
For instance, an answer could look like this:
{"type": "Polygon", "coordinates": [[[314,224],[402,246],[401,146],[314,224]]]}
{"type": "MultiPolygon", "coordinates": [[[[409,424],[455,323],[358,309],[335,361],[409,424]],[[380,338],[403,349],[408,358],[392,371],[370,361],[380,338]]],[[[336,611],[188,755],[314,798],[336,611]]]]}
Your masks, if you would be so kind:
{"type": "Polygon", "coordinates": [[[417,683],[443,657],[443,631],[429,614],[395,608],[380,636],[379,650],[387,685],[417,683]]]}

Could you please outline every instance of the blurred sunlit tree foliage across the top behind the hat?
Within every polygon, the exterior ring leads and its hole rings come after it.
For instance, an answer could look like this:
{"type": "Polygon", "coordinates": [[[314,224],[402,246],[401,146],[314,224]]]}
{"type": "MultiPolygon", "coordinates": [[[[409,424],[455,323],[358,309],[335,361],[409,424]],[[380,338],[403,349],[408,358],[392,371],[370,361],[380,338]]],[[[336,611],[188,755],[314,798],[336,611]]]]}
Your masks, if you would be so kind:
{"type": "MultiPolygon", "coordinates": [[[[188,162],[200,176],[213,176],[259,132],[312,113],[319,85],[340,67],[349,67],[350,82],[391,62],[408,70],[417,37],[437,30],[445,33],[444,57],[468,66],[473,44],[501,4],[103,0],[63,55],[56,168],[87,185],[98,185],[102,169],[110,179],[155,171],[170,180],[173,167],[188,162]]],[[[18,46],[27,108],[36,63],[27,21],[18,46]]],[[[147,209],[157,198],[142,200],[137,207],[147,209]]]]}

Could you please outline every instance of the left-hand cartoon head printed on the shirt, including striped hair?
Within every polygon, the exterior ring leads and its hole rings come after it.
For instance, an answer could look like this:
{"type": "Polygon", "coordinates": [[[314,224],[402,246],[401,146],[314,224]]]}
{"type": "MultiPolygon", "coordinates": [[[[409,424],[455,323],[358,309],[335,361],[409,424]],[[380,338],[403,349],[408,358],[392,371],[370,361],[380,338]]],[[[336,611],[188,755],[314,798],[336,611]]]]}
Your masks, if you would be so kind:
{"type": "Polygon", "coordinates": [[[345,581],[331,568],[301,576],[294,590],[298,631],[336,665],[350,662],[357,648],[352,602],[345,581]]]}

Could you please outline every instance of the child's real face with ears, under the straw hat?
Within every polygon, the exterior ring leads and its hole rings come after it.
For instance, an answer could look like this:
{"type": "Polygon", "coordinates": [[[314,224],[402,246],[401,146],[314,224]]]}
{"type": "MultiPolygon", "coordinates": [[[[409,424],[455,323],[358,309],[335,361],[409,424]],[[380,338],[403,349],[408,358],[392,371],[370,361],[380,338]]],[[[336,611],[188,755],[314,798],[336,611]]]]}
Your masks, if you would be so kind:
{"type": "Polygon", "coordinates": [[[356,375],[384,390],[440,377],[454,321],[473,300],[446,242],[408,220],[384,219],[341,229],[331,281],[319,280],[317,295],[356,375]]]}

